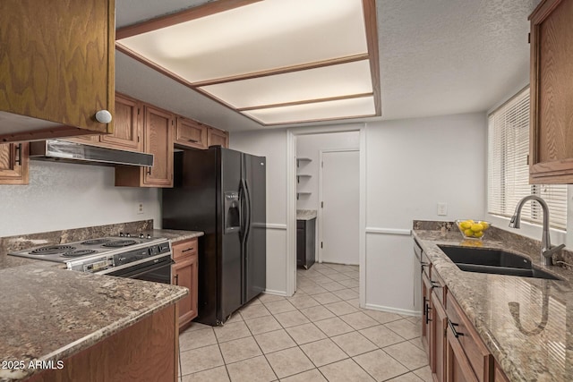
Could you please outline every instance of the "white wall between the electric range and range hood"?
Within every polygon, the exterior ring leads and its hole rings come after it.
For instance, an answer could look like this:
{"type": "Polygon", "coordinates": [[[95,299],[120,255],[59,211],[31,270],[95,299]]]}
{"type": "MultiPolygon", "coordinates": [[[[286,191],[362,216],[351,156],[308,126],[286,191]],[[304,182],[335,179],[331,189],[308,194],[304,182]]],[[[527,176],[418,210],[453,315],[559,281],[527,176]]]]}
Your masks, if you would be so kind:
{"type": "Polygon", "coordinates": [[[113,167],[30,161],[30,185],[0,185],[0,237],[146,219],[160,227],[159,191],[115,187],[114,176],[113,167]]]}

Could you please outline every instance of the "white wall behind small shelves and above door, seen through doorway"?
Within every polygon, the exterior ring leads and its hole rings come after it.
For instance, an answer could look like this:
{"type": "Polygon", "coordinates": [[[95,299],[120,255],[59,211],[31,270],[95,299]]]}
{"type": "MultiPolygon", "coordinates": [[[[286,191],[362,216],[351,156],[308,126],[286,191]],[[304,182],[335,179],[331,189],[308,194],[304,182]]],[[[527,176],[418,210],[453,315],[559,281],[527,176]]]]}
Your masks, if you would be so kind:
{"type": "Polygon", "coordinates": [[[297,190],[310,191],[296,200],[298,209],[319,208],[319,152],[324,149],[359,149],[359,132],[335,132],[325,134],[299,135],[296,137],[296,157],[310,157],[312,162],[301,162],[297,174],[311,174],[311,178],[300,178],[297,190]]]}

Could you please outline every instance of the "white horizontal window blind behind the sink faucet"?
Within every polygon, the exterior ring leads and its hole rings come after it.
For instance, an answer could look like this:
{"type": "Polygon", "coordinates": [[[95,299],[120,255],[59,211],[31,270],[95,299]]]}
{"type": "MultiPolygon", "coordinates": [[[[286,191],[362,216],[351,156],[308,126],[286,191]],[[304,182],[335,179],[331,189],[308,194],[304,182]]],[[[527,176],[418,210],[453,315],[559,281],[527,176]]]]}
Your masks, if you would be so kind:
{"type": "MultiPolygon", "coordinates": [[[[543,198],[553,228],[567,228],[567,186],[529,184],[529,88],[520,91],[491,115],[488,123],[488,212],[512,216],[517,202],[527,195],[543,198]]],[[[522,220],[541,224],[543,211],[527,202],[522,220]]]]}

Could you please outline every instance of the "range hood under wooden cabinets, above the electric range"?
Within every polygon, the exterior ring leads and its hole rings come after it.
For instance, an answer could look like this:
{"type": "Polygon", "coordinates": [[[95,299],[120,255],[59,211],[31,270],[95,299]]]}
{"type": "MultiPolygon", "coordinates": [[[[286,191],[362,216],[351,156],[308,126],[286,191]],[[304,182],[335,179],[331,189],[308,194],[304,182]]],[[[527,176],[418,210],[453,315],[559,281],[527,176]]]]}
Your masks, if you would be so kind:
{"type": "Polygon", "coordinates": [[[30,158],[100,166],[153,166],[152,154],[100,148],[66,140],[30,142],[30,158]]]}

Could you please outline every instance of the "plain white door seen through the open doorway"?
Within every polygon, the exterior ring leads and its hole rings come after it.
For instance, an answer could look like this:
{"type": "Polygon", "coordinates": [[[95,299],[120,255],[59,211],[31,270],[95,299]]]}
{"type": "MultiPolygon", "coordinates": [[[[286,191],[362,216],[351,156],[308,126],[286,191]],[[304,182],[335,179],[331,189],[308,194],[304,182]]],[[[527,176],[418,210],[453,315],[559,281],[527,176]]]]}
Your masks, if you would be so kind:
{"type": "Polygon", "coordinates": [[[358,265],[359,153],[322,152],[321,261],[358,265]]]}

